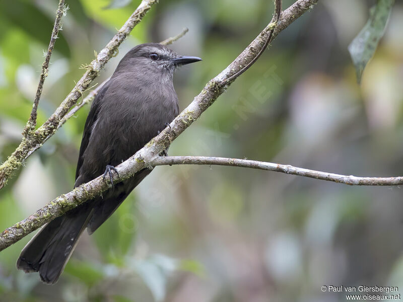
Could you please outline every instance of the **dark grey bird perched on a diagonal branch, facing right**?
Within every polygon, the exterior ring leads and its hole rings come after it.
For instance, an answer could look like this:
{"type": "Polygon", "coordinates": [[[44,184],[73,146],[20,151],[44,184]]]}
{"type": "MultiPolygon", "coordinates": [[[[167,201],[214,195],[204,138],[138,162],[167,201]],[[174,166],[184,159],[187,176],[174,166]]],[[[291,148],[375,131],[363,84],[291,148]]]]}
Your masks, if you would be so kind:
{"type": "MultiPolygon", "coordinates": [[[[114,166],[135,154],[178,115],[174,70],[200,60],[180,56],[158,43],[136,46],[123,57],[91,106],[74,187],[102,174],[112,181],[114,166]]],[[[22,250],[17,268],[39,272],[45,283],[56,282],[84,229],[95,232],[150,171],[139,171],[114,184],[103,197],[47,223],[22,250]]]]}

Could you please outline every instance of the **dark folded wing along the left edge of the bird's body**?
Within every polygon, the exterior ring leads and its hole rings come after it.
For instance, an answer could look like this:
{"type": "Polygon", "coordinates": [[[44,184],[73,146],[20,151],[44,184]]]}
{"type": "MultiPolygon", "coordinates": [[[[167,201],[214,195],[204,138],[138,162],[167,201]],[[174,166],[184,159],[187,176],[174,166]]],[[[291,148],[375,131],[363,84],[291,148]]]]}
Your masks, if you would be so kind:
{"type": "MultiPolygon", "coordinates": [[[[95,121],[97,120],[99,108],[100,108],[102,99],[105,96],[105,93],[109,88],[109,83],[110,83],[110,81],[105,83],[105,85],[100,89],[98,94],[95,96],[95,99],[91,105],[90,113],[88,114],[87,120],[85,122],[83,138],[81,140],[81,146],[80,146],[80,155],[79,155],[79,160],[77,163],[76,181],[80,176],[80,168],[83,165],[83,155],[84,155],[85,149],[88,146],[88,142],[90,141],[92,127],[93,127],[95,121]]],[[[81,185],[81,184],[76,183],[75,187],[77,187],[79,185],[81,185]]]]}

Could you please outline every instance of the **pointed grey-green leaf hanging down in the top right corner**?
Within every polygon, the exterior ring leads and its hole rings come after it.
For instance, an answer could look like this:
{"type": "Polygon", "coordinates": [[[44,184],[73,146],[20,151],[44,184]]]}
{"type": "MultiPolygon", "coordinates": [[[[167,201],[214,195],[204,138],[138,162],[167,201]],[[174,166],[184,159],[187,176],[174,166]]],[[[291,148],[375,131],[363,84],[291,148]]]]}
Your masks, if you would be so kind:
{"type": "Polygon", "coordinates": [[[362,72],[374,55],[379,40],[385,32],[386,22],[393,4],[394,0],[378,0],[376,6],[370,10],[367,24],[349,45],[358,83],[361,83],[362,72]]]}

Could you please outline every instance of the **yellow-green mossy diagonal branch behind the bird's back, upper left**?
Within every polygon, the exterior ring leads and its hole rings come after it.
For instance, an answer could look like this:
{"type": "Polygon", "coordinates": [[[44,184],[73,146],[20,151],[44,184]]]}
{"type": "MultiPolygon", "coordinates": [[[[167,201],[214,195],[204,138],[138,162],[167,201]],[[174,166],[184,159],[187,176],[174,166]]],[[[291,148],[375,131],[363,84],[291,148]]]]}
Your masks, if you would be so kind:
{"type": "Polygon", "coordinates": [[[116,53],[119,45],[130,34],[133,27],[140,23],[146,13],[157,2],[158,0],[143,0],[141,2],[137,10],[127,19],[120,30],[113,36],[108,44],[106,44],[105,48],[99,52],[88,66],[85,66],[87,71],[84,73],[83,77],[77,82],[70,94],[61,102],[60,106],[56,108],[49,119],[28,138],[22,138],[20,145],[14,153],[0,166],[0,189],[4,187],[13,171],[21,167],[23,161],[33,150],[38,149],[46,139],[56,132],[60,120],[69,112],[70,108],[77,103],[78,99],[83,95],[83,92],[90,88],[91,82],[98,76],[101,69],[116,53]]]}

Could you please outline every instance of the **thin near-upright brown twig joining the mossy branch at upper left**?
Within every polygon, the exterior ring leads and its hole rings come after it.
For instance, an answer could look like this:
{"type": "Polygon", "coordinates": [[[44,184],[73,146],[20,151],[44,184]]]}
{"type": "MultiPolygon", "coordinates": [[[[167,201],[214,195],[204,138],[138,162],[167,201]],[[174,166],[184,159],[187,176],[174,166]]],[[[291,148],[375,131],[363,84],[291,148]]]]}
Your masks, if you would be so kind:
{"type": "Polygon", "coordinates": [[[41,94],[42,94],[43,83],[45,82],[45,79],[48,75],[50,56],[52,55],[54,43],[56,42],[57,35],[61,28],[60,20],[61,20],[61,16],[63,16],[64,10],[66,10],[66,8],[64,8],[64,0],[60,0],[59,5],[57,7],[57,11],[56,11],[56,19],[54,20],[52,35],[50,36],[49,47],[47,48],[45,61],[42,64],[42,72],[41,72],[41,75],[39,78],[38,89],[36,90],[34,105],[32,106],[31,115],[30,115],[28,123],[24,129],[24,134],[26,136],[35,130],[37,110],[38,110],[39,100],[40,100],[41,94]]]}

